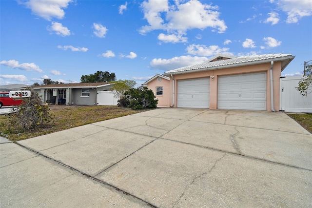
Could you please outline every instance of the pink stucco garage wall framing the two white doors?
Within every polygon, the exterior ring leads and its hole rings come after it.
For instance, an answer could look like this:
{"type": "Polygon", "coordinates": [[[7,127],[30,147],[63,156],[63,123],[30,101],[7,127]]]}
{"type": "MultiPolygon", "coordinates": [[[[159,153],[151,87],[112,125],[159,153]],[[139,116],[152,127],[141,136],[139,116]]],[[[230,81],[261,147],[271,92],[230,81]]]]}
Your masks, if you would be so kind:
{"type": "MultiPolygon", "coordinates": [[[[210,79],[210,109],[217,109],[217,86],[218,86],[218,76],[222,75],[234,75],[234,74],[243,74],[243,73],[253,73],[253,72],[267,72],[267,111],[271,110],[271,88],[270,88],[270,67],[271,63],[262,63],[257,65],[247,65],[241,67],[233,67],[233,68],[226,68],[226,69],[218,69],[218,70],[211,70],[211,71],[202,71],[202,72],[194,72],[194,73],[185,73],[185,74],[177,74],[174,75],[175,79],[175,105],[177,103],[177,81],[184,80],[184,79],[196,79],[202,77],[210,77],[215,76],[214,80],[210,79]]],[[[274,62],[273,64],[273,97],[274,97],[274,109],[279,111],[279,82],[281,75],[281,62],[274,62]]],[[[157,82],[157,81],[156,81],[157,82]]],[[[168,82],[169,83],[169,82],[168,82]]],[[[149,83],[150,85],[150,83],[149,83]]],[[[170,98],[168,105],[173,104],[173,79],[170,79],[170,84],[168,85],[170,90],[170,98]]],[[[156,85],[154,85],[156,87],[156,85]]],[[[154,87],[154,88],[155,88],[154,87]]],[[[166,91],[167,93],[167,91],[166,91]]],[[[164,91],[165,95],[165,91],[164,91]]],[[[167,96],[166,96],[167,98],[167,96]]]]}

